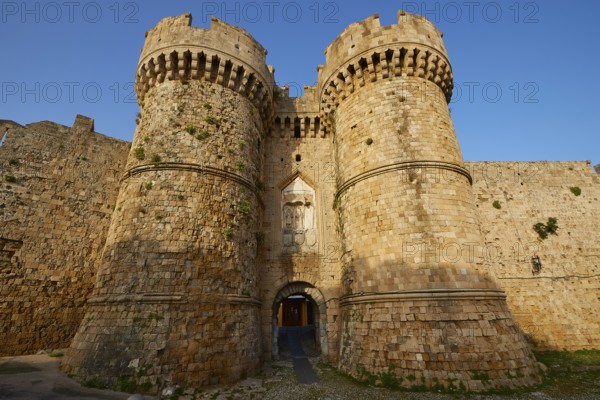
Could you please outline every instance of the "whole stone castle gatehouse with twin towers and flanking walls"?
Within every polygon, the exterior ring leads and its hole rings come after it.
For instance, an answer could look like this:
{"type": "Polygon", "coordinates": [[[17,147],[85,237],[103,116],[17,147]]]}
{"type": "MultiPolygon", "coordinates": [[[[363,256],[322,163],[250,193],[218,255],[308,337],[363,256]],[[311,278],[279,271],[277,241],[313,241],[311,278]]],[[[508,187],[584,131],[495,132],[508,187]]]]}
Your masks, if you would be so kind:
{"type": "Polygon", "coordinates": [[[245,30],[167,17],[132,143],[0,120],[0,355],[201,388],[303,326],[359,380],[486,391],[539,382],[531,348],[598,348],[600,166],[464,162],[442,34],[397,18],[348,26],[291,97],[245,30]]]}

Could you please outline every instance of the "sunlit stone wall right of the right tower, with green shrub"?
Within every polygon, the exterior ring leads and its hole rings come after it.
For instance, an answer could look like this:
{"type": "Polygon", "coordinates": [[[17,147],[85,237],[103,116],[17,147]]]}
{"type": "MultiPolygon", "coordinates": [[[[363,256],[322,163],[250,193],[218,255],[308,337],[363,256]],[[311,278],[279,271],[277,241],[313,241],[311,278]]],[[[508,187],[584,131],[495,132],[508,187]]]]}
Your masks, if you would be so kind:
{"type": "Polygon", "coordinates": [[[493,265],[531,344],[600,348],[600,177],[589,162],[473,162],[467,167],[485,235],[473,254],[493,265]],[[550,217],[558,220],[558,232],[542,240],[533,225],[550,217]],[[532,268],[534,256],[542,264],[539,272],[532,268]]]}

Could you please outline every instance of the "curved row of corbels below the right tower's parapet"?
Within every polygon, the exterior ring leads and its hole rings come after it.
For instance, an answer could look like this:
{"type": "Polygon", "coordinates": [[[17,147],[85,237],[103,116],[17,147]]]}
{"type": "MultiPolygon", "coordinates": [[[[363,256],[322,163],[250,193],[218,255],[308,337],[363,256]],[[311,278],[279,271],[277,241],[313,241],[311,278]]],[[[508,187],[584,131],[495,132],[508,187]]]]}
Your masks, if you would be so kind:
{"type": "Polygon", "coordinates": [[[454,83],[450,62],[444,54],[422,43],[389,43],[358,54],[341,65],[323,80],[321,87],[320,117],[328,128],[330,121],[326,116],[333,115],[342,100],[368,82],[410,76],[435,83],[448,103],[452,97],[454,83]]]}

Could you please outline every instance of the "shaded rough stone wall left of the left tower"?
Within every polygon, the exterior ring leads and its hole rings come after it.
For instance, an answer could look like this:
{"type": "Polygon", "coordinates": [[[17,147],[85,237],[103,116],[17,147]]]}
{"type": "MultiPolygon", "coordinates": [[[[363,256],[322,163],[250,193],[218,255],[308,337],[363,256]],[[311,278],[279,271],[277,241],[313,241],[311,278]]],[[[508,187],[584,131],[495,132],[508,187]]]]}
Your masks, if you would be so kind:
{"type": "Polygon", "coordinates": [[[128,144],[81,116],[72,128],[0,121],[5,132],[0,355],[64,348],[94,285],[128,144]]]}

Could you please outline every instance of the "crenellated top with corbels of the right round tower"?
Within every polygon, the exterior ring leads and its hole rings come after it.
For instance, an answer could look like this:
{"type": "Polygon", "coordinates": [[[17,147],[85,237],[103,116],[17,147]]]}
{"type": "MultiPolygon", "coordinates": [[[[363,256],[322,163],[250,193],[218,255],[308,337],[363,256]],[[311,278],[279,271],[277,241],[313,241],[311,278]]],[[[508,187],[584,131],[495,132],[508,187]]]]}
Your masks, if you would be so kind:
{"type": "Polygon", "coordinates": [[[452,97],[452,68],[442,33],[425,17],[398,12],[398,24],[381,26],[377,14],[346,28],[325,49],[318,67],[321,118],[368,82],[416,77],[435,83],[452,97]]]}

